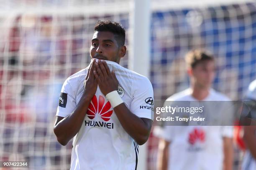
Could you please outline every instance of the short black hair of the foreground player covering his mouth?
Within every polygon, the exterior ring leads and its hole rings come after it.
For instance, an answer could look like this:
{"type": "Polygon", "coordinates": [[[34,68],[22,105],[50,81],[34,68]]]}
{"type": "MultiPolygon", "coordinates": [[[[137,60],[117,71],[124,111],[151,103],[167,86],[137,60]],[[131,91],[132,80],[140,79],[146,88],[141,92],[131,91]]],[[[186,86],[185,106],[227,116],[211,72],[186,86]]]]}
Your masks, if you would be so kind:
{"type": "Polygon", "coordinates": [[[112,32],[119,47],[125,44],[125,29],[120,23],[99,20],[94,28],[94,32],[96,31],[112,32]]]}

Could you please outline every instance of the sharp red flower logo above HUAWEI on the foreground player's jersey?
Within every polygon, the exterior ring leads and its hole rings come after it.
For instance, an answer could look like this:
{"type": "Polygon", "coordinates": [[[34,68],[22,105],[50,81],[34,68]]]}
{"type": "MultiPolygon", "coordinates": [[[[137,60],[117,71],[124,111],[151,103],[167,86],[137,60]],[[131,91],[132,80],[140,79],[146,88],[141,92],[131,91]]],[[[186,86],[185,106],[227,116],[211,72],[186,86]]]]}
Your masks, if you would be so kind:
{"type": "Polygon", "coordinates": [[[110,120],[110,116],[113,113],[113,110],[110,110],[111,105],[110,102],[107,102],[105,105],[105,99],[103,96],[99,96],[99,101],[97,100],[96,95],[92,97],[92,100],[90,102],[90,105],[87,110],[87,115],[89,119],[94,119],[96,114],[100,115],[100,118],[102,120],[108,121],[110,120]]]}

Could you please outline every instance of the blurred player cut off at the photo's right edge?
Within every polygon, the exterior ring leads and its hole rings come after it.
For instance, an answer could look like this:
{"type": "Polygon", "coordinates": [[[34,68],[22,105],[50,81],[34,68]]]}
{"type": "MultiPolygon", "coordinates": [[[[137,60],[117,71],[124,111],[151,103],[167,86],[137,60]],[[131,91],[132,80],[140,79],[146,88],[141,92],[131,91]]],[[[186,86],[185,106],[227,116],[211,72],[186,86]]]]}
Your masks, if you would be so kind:
{"type": "Polygon", "coordinates": [[[243,157],[242,170],[256,170],[256,80],[251,82],[246,94],[250,110],[246,118],[250,125],[243,126],[243,140],[246,143],[246,153],[243,157]]]}

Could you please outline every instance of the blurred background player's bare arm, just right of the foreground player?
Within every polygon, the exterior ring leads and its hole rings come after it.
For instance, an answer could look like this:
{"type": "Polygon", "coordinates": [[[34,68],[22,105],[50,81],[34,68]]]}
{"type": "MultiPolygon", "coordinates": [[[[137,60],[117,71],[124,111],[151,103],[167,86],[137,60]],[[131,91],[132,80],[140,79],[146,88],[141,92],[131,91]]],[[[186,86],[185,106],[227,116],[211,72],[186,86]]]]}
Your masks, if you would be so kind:
{"type": "Polygon", "coordinates": [[[169,141],[165,139],[160,139],[157,155],[157,170],[167,170],[168,168],[169,145],[169,141]]]}

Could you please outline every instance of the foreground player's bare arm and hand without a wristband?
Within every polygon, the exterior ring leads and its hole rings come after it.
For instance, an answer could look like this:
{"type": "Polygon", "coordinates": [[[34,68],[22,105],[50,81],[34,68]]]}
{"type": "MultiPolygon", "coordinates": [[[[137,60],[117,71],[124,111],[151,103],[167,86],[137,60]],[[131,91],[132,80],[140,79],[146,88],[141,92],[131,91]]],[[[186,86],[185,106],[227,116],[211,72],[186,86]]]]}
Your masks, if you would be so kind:
{"type": "Polygon", "coordinates": [[[92,62],[89,73],[85,78],[85,90],[75,110],[67,117],[56,117],[54,133],[61,145],[67,145],[81,128],[90,101],[97,90],[97,81],[93,75],[95,61],[92,62]]]}

